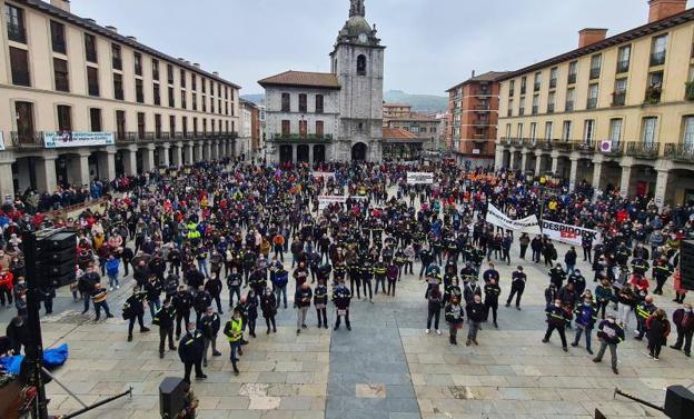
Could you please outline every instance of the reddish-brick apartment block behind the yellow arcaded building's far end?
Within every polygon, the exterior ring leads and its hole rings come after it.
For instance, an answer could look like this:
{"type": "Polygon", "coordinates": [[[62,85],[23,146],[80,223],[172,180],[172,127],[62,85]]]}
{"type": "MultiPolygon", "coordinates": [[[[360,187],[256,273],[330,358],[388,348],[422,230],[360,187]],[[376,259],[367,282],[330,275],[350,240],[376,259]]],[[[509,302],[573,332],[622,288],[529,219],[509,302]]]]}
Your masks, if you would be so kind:
{"type": "Polygon", "coordinates": [[[446,90],[448,123],[446,141],[460,163],[489,166],[495,157],[499,83],[505,72],[489,71],[446,90]]]}

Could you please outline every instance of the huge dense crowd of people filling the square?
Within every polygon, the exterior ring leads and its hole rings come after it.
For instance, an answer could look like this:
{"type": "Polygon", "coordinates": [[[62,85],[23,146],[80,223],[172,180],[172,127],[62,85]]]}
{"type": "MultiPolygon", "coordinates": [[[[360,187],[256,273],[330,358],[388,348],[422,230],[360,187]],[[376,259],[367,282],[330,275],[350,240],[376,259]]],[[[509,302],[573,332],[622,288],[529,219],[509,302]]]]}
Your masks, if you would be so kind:
{"type": "MultiPolygon", "coordinates": [[[[276,316],[288,309],[288,300],[296,310],[297,335],[308,328],[311,306],[318,328],[338,330],[344,321],[350,330],[355,298],[373,303],[379,291],[394,298],[407,276],[423,281],[426,333],[442,335],[443,311],[449,343],[457,345],[458,331],[467,328],[465,343],[477,346],[484,322],[498,327],[503,292],[495,263],[510,265],[513,246],[519,247],[519,259],[506,307],[522,310],[524,268],[549,268],[543,341],[556,330],[567,351],[566,331],[575,327],[572,346],[583,338],[593,355],[592,331],[597,329],[601,347],[593,360],[599,362],[609,348],[617,373],[617,345],[634,327],[635,338],[646,337],[657,360],[671,321],[653,296],[662,295],[673,278],[673,301],[682,305],[672,316],[677,331],[673,348],[691,356],[694,313],[684,303],[677,266],[682,240],[694,233],[692,206],[658,208],[647,197],[626,199],[612,188],[594,191],[581,183],[569,192],[566,184],[519,172],[442,163],[219,161],[98,184],[98,190],[80,189],[81,197],[105,196],[107,209],[76,219],[50,220],[40,210],[63,200],[54,197],[40,204],[36,192],[2,204],[0,302],[17,301],[18,316],[0,352],[19,353],[27,333],[22,231],[69,227],[78,231],[77,273],[70,285],[76,303],[82,301],[85,315],[93,303],[99,321],[102,310],[107,318],[113,316],[109,293],[130,287],[122,307],[128,340],[135,339],[136,322],[141,333],[158,327],[160,357],[166,349],[177,350],[187,381],[194,370],[197,379],[206,378],[208,356],[222,355],[218,339],[228,341],[239,373],[258,317],[265,319],[266,333],[275,333],[276,316]],[[433,172],[434,183],[409,184],[408,171],[433,172]],[[346,198],[326,201],[320,196],[346,198]],[[489,204],[512,219],[536,215],[595,229],[602,240],[586,235],[582,251],[569,247],[558,255],[564,246],[546,236],[531,239],[486,222],[489,204]],[[577,268],[581,253],[592,266],[594,288],[577,268]],[[132,281],[123,281],[130,277],[132,281]],[[328,325],[328,307],[334,308],[334,325],[328,325]]],[[[46,295],[50,315],[54,290],[46,295]]]]}

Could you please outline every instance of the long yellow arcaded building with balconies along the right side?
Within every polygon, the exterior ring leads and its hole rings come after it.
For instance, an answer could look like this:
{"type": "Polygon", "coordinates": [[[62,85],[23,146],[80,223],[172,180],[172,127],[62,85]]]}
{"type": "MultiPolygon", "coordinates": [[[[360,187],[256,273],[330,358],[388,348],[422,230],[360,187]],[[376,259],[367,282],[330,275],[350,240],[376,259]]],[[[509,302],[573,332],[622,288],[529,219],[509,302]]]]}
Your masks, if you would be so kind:
{"type": "Polygon", "coordinates": [[[658,206],[694,199],[694,10],[651,0],[648,23],[502,79],[496,166],[658,206]]]}

